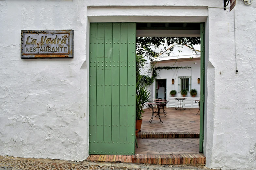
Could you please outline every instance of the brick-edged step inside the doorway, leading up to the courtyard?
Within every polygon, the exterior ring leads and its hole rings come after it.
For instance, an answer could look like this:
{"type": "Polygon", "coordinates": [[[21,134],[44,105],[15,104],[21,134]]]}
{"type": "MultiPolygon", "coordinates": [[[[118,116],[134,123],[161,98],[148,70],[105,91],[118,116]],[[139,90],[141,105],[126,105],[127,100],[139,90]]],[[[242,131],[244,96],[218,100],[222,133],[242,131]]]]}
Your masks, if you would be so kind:
{"type": "Polygon", "coordinates": [[[199,132],[138,132],[137,138],[199,138],[199,132]]]}

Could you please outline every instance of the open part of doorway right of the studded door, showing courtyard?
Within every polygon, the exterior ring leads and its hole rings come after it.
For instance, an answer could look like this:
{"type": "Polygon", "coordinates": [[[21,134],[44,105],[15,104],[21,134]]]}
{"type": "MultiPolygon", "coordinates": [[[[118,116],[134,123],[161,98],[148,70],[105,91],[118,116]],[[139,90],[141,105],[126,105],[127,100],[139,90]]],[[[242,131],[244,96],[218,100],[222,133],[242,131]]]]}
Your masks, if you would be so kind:
{"type": "Polygon", "coordinates": [[[146,104],[136,154],[203,152],[204,23],[137,23],[136,29],[137,44],[150,43],[137,49],[148,48],[142,74],[154,79],[150,103],[166,104],[166,115],[162,106],[146,104]]]}

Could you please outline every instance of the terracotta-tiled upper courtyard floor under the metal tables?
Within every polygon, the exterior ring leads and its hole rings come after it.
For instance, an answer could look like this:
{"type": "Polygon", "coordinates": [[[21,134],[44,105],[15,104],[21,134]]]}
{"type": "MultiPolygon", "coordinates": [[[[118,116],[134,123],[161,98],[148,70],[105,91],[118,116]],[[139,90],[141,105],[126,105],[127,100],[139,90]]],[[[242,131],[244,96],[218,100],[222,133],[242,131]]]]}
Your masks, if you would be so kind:
{"type": "Polygon", "coordinates": [[[154,113],[153,120],[150,123],[149,120],[152,116],[152,110],[144,109],[141,132],[199,132],[200,112],[197,114],[198,110],[192,108],[186,108],[186,110],[180,110],[179,108],[175,110],[175,108],[165,107],[167,116],[165,117],[163,112],[160,113],[163,123],[160,122],[156,113],[154,113]]]}

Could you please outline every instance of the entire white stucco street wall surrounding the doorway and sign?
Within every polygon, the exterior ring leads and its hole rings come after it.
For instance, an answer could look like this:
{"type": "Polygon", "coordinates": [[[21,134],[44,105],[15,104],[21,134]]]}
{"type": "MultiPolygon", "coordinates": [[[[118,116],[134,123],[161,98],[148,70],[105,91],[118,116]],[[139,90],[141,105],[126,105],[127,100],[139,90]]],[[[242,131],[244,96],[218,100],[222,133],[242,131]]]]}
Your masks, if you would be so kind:
{"type": "Polygon", "coordinates": [[[223,1],[1,0],[0,155],[86,159],[89,22],[205,22],[206,166],[254,170],[256,3],[236,3],[234,39],[223,1]],[[74,58],[21,59],[24,29],[73,29],[74,58]]]}

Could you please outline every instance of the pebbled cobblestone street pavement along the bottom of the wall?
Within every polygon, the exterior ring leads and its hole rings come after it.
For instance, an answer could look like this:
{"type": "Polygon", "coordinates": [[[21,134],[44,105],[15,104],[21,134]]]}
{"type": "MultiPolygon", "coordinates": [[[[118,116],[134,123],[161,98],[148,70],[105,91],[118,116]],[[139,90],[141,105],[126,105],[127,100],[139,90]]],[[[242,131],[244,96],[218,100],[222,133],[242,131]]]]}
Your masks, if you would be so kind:
{"type": "Polygon", "coordinates": [[[132,163],[74,162],[0,156],[0,170],[209,170],[203,166],[145,165],[132,163]]]}

